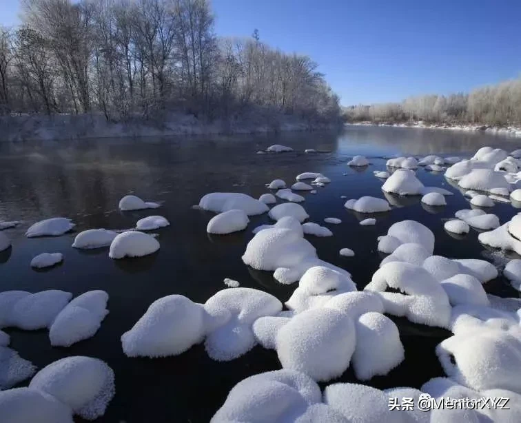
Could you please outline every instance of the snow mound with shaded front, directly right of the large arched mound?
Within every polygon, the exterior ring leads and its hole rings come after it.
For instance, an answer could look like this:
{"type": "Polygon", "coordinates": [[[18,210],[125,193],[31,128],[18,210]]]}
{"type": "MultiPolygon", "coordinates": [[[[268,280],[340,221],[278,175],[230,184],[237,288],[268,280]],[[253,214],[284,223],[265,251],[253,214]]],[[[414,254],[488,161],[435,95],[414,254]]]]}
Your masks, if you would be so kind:
{"type": "Polygon", "coordinates": [[[489,305],[489,298],[487,298],[481,282],[471,275],[454,275],[440,283],[452,306],[489,305]]]}

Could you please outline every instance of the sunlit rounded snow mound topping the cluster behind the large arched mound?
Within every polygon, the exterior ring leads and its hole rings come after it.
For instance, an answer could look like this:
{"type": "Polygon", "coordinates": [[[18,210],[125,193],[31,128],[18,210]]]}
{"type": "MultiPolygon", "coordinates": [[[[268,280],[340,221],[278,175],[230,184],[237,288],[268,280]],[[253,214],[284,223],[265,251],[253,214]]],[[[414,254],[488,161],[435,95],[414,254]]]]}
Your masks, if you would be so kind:
{"type": "Polygon", "coordinates": [[[432,254],[434,234],[416,220],[402,220],[391,225],[386,236],[378,238],[378,251],[391,254],[400,245],[407,243],[420,244],[432,254]]]}

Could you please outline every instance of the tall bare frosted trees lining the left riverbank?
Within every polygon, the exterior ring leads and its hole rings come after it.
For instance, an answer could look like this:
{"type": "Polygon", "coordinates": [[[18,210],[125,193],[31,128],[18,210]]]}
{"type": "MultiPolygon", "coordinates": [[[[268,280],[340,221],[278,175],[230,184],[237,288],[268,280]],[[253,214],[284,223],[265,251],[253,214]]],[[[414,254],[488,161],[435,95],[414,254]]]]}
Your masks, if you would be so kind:
{"type": "Polygon", "coordinates": [[[214,33],[209,0],[23,0],[0,28],[0,114],[103,112],[108,121],[247,106],[310,121],[340,116],[317,64],[214,33]]]}

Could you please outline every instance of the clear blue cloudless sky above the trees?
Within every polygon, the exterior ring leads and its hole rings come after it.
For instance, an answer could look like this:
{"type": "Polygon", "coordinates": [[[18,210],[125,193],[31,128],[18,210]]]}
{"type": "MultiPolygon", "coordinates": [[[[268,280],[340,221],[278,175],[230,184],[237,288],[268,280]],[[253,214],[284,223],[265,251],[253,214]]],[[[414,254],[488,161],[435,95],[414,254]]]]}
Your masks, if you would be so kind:
{"type": "MultiPolygon", "coordinates": [[[[521,0],[212,0],[216,32],[308,54],[344,105],[449,94],[521,74],[521,0]]],[[[0,0],[17,23],[18,0],[0,0]]]]}

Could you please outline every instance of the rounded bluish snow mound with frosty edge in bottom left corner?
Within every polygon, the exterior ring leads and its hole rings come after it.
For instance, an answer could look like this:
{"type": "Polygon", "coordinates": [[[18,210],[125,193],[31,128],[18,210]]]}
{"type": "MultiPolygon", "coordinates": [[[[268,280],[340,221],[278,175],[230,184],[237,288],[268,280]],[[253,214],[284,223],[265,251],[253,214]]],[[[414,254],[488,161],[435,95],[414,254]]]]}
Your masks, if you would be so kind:
{"type": "Polygon", "coordinates": [[[52,395],[86,420],[95,420],[105,414],[114,397],[114,371],[102,360],[77,355],[41,369],[29,388],[52,395]]]}

